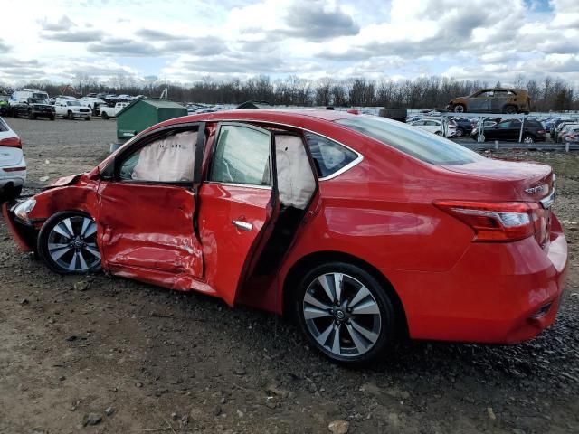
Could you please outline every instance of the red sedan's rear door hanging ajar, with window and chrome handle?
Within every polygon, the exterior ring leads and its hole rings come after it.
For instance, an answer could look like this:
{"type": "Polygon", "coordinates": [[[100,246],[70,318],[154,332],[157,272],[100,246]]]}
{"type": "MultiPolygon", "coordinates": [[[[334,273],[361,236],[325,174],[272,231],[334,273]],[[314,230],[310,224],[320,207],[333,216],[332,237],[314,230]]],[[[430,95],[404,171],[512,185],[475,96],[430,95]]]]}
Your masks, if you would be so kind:
{"type": "Polygon", "coordinates": [[[223,122],[200,190],[199,233],[207,283],[233,306],[277,197],[271,133],[223,122]]]}

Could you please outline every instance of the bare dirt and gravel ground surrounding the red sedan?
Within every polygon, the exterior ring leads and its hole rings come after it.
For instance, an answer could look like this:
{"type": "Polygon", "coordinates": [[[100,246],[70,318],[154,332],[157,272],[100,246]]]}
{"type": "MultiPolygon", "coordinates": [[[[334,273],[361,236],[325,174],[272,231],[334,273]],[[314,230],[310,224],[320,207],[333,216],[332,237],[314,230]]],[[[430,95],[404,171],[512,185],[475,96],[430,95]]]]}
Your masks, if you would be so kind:
{"type": "MultiPolygon", "coordinates": [[[[24,194],[97,164],[115,138],[112,120],[6,120],[24,141],[24,194]]],[[[579,432],[579,155],[500,156],[555,167],[571,258],[556,324],[515,346],[402,344],[373,370],[328,363],[246,307],[58,276],[0,222],[0,432],[579,432]]]]}

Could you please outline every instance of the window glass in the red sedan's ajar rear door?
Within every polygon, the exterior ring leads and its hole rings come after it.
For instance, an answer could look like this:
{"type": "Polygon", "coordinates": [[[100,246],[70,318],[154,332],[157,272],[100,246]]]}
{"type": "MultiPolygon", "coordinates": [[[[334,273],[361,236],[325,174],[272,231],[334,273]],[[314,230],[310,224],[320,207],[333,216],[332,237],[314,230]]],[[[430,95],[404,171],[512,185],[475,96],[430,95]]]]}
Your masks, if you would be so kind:
{"type": "Polygon", "coordinates": [[[271,136],[236,125],[220,129],[210,181],[231,184],[271,185],[271,136]]]}

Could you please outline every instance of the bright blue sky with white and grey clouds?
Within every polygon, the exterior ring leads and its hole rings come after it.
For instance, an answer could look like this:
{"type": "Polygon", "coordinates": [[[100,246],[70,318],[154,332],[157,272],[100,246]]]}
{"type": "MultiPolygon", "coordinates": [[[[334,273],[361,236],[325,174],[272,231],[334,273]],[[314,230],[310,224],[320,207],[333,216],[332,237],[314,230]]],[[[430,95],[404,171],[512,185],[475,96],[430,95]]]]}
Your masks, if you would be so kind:
{"type": "Polygon", "coordinates": [[[0,82],[298,76],[579,88],[579,0],[2,0],[0,82]]]}

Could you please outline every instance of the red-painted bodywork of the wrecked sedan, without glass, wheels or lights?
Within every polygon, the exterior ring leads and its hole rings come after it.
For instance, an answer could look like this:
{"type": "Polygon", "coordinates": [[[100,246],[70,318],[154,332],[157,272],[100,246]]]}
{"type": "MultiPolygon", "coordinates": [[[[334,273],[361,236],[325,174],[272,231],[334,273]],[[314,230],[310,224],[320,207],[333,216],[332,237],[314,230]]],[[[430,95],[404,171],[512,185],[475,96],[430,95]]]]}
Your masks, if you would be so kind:
{"type": "MultiPolygon", "coordinates": [[[[550,191],[551,169],[499,161],[428,165],[332,122],[349,116],[331,110],[226,111],[149,128],[205,121],[211,133],[219,120],[274,123],[318,132],[364,156],[342,175],[319,183],[307,221],[270,278],[247,273],[275,215],[268,189],[202,184],[195,210],[194,193],[185,187],[101,181],[99,171],[113,154],[90,174],[64,179],[37,194],[30,217],[40,228],[54,212],[88,212],[98,223],[103,267],[109,273],[201,291],[232,305],[242,299],[280,313],[289,271],[311,255],[338,252],[364,261],[392,284],[412,337],[513,343],[552,324],[567,264],[565,236],[555,215],[544,247],[532,236],[473,242],[474,231],[467,224],[432,204],[536,201],[524,190],[543,183],[550,191]],[[236,229],[233,220],[252,223],[252,231],[236,229]],[[259,290],[246,290],[250,284],[260,285],[259,290]],[[531,318],[546,303],[552,303],[546,316],[531,318]]],[[[205,172],[212,145],[210,139],[205,172]]],[[[12,216],[6,218],[10,222],[12,216]]],[[[17,231],[14,224],[11,229],[17,231]]]]}

